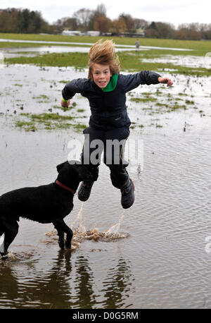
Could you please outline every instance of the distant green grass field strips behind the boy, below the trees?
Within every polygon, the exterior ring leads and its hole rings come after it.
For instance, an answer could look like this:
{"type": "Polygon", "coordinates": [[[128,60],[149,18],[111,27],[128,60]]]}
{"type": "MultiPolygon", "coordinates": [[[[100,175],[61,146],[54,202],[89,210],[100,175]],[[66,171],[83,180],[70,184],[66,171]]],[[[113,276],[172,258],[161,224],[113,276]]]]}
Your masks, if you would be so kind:
{"type": "MultiPolygon", "coordinates": [[[[3,39],[23,39],[27,40],[41,40],[44,42],[89,42],[94,43],[98,39],[111,39],[110,37],[89,37],[89,36],[63,36],[63,35],[33,35],[33,34],[9,34],[0,33],[0,38],[3,39]]],[[[134,45],[134,38],[129,37],[113,37],[115,44],[122,45],[134,45]]],[[[192,51],[176,51],[169,49],[151,49],[146,51],[120,51],[118,56],[120,58],[121,70],[122,71],[157,71],[158,73],[165,73],[172,69],[175,74],[183,75],[196,75],[196,76],[210,76],[211,69],[206,68],[191,68],[184,66],[177,66],[172,63],[142,63],[142,59],[154,59],[163,57],[165,55],[197,55],[205,56],[207,52],[211,51],[211,42],[206,41],[184,41],[177,39],[150,39],[141,38],[139,39],[141,46],[155,46],[155,47],[169,47],[169,48],[183,48],[191,49],[192,51]]],[[[11,42],[0,42],[0,47],[28,47],[28,46],[46,46],[46,44],[33,44],[33,43],[11,43],[11,42]]],[[[52,44],[55,46],[56,44],[52,44]]],[[[58,44],[59,46],[61,44],[58,44]]],[[[82,45],[84,46],[84,45],[82,45]]],[[[90,47],[90,45],[87,45],[90,47]]],[[[88,55],[87,53],[61,53],[61,54],[44,54],[37,55],[34,57],[14,57],[10,59],[4,59],[5,63],[20,63],[20,64],[35,64],[39,66],[74,66],[76,69],[87,68],[88,55]]],[[[65,81],[60,81],[65,83],[65,81]]]]}

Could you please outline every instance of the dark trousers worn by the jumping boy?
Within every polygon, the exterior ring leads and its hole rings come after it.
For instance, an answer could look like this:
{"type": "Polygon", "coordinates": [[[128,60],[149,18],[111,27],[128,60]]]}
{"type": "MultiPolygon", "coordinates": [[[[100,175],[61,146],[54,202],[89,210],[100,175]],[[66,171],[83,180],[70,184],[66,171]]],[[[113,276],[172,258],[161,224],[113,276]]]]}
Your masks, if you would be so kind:
{"type": "Polygon", "coordinates": [[[122,188],[129,178],[124,161],[124,146],[129,137],[129,128],[101,130],[93,127],[84,130],[82,164],[98,179],[98,166],[103,154],[103,162],[110,168],[110,179],[115,188],[122,188]]]}

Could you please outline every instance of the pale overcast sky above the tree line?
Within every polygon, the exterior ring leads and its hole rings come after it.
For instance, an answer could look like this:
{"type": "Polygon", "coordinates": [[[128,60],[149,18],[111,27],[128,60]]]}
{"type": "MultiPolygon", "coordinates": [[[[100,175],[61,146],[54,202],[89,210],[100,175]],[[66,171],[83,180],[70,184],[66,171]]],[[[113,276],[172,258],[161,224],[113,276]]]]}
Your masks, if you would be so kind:
{"type": "Polygon", "coordinates": [[[210,0],[0,0],[0,9],[41,11],[42,17],[53,23],[59,18],[71,17],[81,8],[95,10],[98,4],[105,4],[106,14],[112,20],[120,13],[129,13],[133,18],[172,23],[175,27],[180,23],[211,23],[210,0]]]}

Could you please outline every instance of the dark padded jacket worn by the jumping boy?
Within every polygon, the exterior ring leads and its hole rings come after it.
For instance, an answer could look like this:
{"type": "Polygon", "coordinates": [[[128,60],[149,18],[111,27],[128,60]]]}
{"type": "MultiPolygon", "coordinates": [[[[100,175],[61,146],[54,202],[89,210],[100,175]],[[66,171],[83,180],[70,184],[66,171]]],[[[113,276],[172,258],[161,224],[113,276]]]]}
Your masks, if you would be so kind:
{"type": "Polygon", "coordinates": [[[131,122],[127,115],[126,93],[139,85],[158,84],[159,74],[152,71],[141,71],[134,74],[118,74],[117,85],[110,92],[103,92],[94,81],[77,78],[63,88],[63,99],[72,99],[80,93],[89,100],[91,117],[89,126],[110,130],[113,128],[129,128],[131,122]]]}

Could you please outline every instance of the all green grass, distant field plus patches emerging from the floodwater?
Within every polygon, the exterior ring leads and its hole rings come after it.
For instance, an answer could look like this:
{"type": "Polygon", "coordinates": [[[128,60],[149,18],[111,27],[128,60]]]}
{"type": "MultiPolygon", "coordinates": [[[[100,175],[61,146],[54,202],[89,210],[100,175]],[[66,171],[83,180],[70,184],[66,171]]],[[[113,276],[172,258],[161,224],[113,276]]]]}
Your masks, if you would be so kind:
{"type": "MultiPolygon", "coordinates": [[[[18,35],[18,34],[0,34],[0,38],[12,38],[13,39],[30,39],[30,40],[44,40],[44,41],[64,41],[64,42],[96,42],[99,37],[68,37],[61,35],[18,35]]],[[[106,37],[107,38],[107,37],[106,37]]],[[[132,38],[113,38],[116,44],[134,44],[132,38]]],[[[6,44],[6,42],[0,43],[1,45],[6,44]]],[[[141,70],[151,70],[157,71],[161,75],[164,75],[166,71],[172,74],[183,74],[183,75],[196,75],[196,76],[210,76],[211,70],[206,68],[188,68],[184,66],[174,66],[172,63],[143,63],[143,59],[152,59],[160,58],[165,55],[198,55],[204,56],[207,51],[211,51],[211,42],[186,42],[186,41],[176,41],[173,39],[140,39],[140,44],[144,46],[159,46],[159,47],[180,47],[186,49],[193,49],[193,51],[170,51],[167,49],[155,50],[151,49],[149,51],[122,51],[118,52],[121,63],[121,71],[141,71],[141,70]],[[169,72],[169,69],[174,71],[169,72]]],[[[11,43],[8,43],[8,47],[11,43]]],[[[46,46],[46,44],[43,44],[46,46]]],[[[61,46],[61,44],[58,44],[61,46]]],[[[41,44],[29,44],[29,43],[12,43],[14,47],[34,47],[41,46],[41,44]]],[[[55,46],[55,44],[53,44],[55,46]]],[[[88,45],[87,45],[88,46],[88,45]]],[[[4,46],[3,46],[4,47],[4,46]]],[[[83,70],[87,68],[88,55],[87,53],[62,53],[62,54],[45,54],[37,55],[34,57],[17,57],[11,59],[4,59],[5,63],[30,63],[36,64],[37,66],[73,66],[76,70],[83,70]]],[[[188,78],[187,78],[188,79],[188,78]]],[[[66,80],[58,81],[60,83],[68,83],[66,80]]],[[[188,83],[187,83],[188,84],[188,83]]],[[[22,86],[18,83],[15,83],[15,87],[22,86]]],[[[129,93],[130,100],[132,102],[137,102],[143,106],[142,110],[146,110],[146,113],[150,115],[165,114],[174,111],[181,111],[186,109],[197,109],[194,107],[195,102],[192,101],[191,97],[186,93],[178,93],[178,97],[172,97],[170,93],[166,93],[160,87],[160,90],[157,90],[154,95],[156,96],[165,96],[170,102],[169,104],[162,104],[157,101],[155,97],[152,96],[151,92],[143,92],[143,97],[139,98],[134,95],[134,93],[129,93]],[[174,99],[174,101],[172,101],[174,99]],[[147,102],[149,104],[147,104],[147,102]],[[151,104],[152,102],[152,104],[151,104]],[[180,104],[179,104],[180,103],[180,104]]],[[[192,96],[193,97],[193,96],[192,96]]],[[[39,95],[38,97],[33,97],[33,99],[41,99],[44,102],[45,100],[50,99],[45,95],[39,95]]],[[[55,109],[62,109],[63,111],[70,111],[77,104],[71,102],[69,109],[62,108],[60,106],[53,106],[55,109]]],[[[58,111],[54,109],[49,109],[49,111],[58,111]]],[[[84,109],[75,109],[75,112],[83,113],[84,109]]],[[[203,114],[203,111],[199,111],[200,114],[203,114]]],[[[68,114],[68,113],[67,113],[68,114]]],[[[15,122],[15,126],[23,129],[25,131],[36,131],[38,129],[54,130],[54,129],[68,129],[73,128],[77,132],[82,132],[87,126],[84,124],[73,123],[73,120],[76,120],[78,116],[60,116],[59,114],[49,113],[49,114],[20,114],[15,122]],[[23,119],[23,120],[21,120],[23,119]]],[[[161,125],[155,123],[156,128],[162,128],[161,125]]],[[[132,125],[135,127],[137,125],[132,125]]],[[[140,129],[143,128],[143,125],[138,126],[140,129]]]]}

